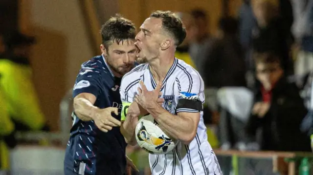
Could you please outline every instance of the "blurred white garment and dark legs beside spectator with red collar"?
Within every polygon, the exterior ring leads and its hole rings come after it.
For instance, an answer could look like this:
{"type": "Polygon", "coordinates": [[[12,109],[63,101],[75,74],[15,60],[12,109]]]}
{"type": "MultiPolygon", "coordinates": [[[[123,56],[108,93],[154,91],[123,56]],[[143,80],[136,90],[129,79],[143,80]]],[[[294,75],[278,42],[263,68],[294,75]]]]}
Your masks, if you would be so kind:
{"type": "Polygon", "coordinates": [[[221,148],[242,149],[245,146],[244,128],[250,116],[253,93],[245,87],[223,87],[218,91],[218,101],[221,107],[221,148]]]}

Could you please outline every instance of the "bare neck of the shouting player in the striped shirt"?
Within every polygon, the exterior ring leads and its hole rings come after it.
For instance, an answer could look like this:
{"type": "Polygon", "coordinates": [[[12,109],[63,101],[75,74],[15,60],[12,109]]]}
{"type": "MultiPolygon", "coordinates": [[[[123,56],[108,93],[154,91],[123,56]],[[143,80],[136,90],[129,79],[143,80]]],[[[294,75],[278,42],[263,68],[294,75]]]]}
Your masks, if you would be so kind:
{"type": "Polygon", "coordinates": [[[149,69],[156,83],[164,79],[175,60],[174,54],[160,55],[149,62],[149,69]]]}

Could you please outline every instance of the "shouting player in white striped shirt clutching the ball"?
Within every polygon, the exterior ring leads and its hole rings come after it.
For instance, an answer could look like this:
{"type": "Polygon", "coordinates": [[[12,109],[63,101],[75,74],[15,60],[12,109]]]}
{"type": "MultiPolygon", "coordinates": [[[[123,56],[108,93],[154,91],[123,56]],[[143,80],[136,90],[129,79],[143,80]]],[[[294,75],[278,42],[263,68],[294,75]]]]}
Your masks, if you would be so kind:
{"type": "Polygon", "coordinates": [[[137,57],[147,63],[122,79],[121,133],[129,144],[136,144],[138,117],[151,114],[164,132],[179,140],[169,153],[149,155],[153,175],[222,175],[203,123],[203,80],[190,65],[175,58],[185,36],[181,20],[170,11],[153,12],[141,25],[135,45],[137,57]]]}

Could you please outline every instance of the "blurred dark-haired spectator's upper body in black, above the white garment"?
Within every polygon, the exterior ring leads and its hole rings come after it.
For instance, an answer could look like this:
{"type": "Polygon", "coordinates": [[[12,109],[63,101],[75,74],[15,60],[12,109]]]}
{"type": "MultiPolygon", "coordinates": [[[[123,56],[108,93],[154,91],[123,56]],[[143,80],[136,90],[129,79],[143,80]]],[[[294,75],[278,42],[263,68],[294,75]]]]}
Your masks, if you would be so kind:
{"type": "Polygon", "coordinates": [[[219,22],[220,35],[213,41],[202,64],[206,87],[246,86],[246,64],[237,32],[238,21],[224,17],[219,22]]]}

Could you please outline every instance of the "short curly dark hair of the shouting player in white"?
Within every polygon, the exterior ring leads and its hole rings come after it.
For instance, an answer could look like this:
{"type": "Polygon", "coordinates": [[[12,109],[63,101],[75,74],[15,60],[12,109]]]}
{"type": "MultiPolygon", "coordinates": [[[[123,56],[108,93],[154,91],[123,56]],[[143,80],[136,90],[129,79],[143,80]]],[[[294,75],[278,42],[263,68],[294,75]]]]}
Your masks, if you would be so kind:
{"type": "Polygon", "coordinates": [[[171,11],[154,11],[150,17],[162,19],[162,28],[172,35],[175,45],[179,46],[186,38],[186,29],[177,15],[171,11]]]}

